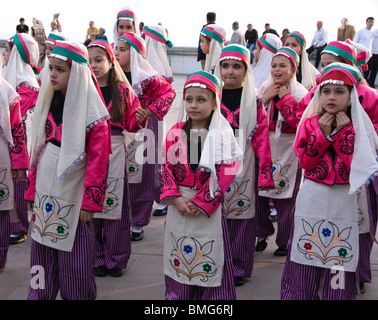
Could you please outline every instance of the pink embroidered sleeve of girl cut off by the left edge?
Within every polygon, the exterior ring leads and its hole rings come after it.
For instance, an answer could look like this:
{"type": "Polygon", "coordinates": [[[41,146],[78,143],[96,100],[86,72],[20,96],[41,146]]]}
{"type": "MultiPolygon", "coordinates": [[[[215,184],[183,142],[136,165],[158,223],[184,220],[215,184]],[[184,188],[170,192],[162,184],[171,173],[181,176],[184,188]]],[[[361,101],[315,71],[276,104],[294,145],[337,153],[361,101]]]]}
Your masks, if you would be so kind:
{"type": "Polygon", "coordinates": [[[14,101],[10,110],[10,125],[13,147],[10,148],[12,169],[28,169],[29,157],[25,140],[24,124],[21,119],[20,102],[14,101]]]}

